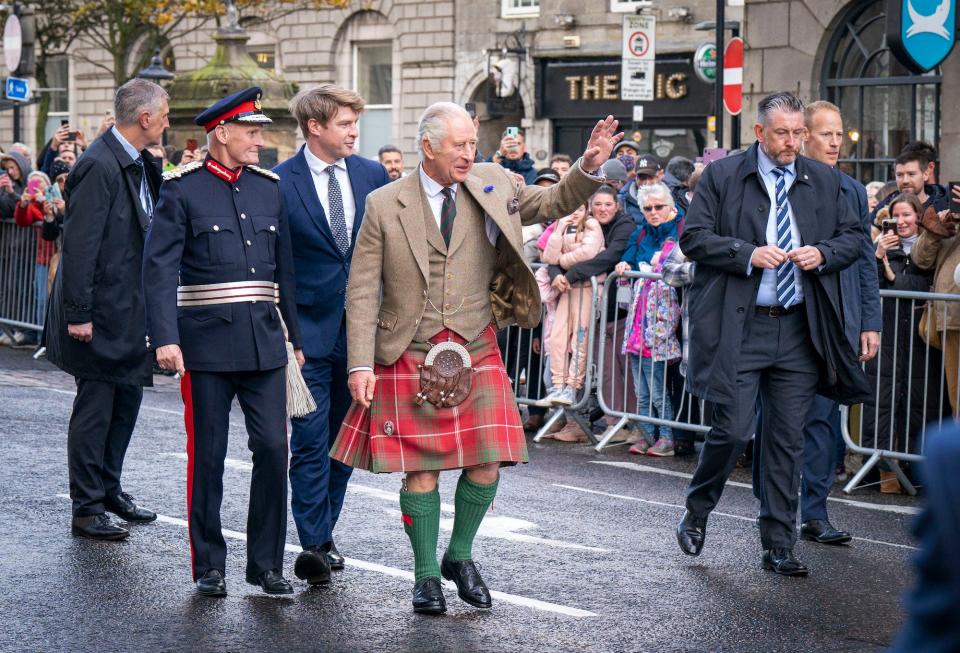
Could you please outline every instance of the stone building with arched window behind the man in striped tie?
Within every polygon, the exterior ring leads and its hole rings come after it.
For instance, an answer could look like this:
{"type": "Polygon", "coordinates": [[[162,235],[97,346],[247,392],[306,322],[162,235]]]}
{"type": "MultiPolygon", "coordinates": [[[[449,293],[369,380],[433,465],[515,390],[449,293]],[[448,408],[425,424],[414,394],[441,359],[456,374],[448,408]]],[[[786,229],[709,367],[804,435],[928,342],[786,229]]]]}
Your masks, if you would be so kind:
{"type": "MultiPolygon", "coordinates": [[[[939,181],[960,178],[960,52],[913,75],[884,38],[884,0],[754,0],[745,7],[744,114],[771,91],[827,99],[843,113],[841,165],[862,181],[892,178],[904,143],[924,139],[940,150],[939,181]],[[854,35],[856,37],[854,38],[854,35]],[[947,108],[946,111],[943,108],[947,108]]],[[[753,139],[744,120],[743,139],[753,139]]]]}

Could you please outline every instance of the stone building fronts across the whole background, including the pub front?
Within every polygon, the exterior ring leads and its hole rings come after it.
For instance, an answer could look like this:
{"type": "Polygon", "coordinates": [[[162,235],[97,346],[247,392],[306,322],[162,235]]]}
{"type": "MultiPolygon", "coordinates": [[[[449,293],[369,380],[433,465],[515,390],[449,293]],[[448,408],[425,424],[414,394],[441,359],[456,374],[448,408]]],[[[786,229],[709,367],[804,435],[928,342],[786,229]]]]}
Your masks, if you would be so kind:
{"type": "MultiPolygon", "coordinates": [[[[617,116],[644,151],[663,159],[695,155],[712,144],[707,121],[714,107],[712,84],[694,71],[694,52],[713,40],[713,32],[696,31],[694,25],[714,19],[714,0],[654,0],[656,97],[623,102],[621,25],[639,4],[354,0],[344,8],[304,10],[271,24],[247,25],[247,48],[260,65],[301,88],[336,82],[360,91],[368,101],[360,153],[373,156],[393,143],[407,155],[408,168],[416,161],[417,120],[438,100],[476,105],[485,154],[496,149],[505,127],[525,128],[537,167],[554,152],[579,154],[590,126],[607,114],[617,116]],[[508,98],[497,97],[491,77],[505,60],[518,87],[508,98]],[[633,120],[637,104],[643,106],[639,123],[633,120]]],[[[878,30],[885,4],[747,0],[745,6],[729,6],[727,20],[741,22],[746,42],[742,142],[753,140],[756,102],[786,88],[805,100],[826,98],[841,106],[851,136],[844,165],[861,179],[886,178],[890,159],[914,138],[940,147],[941,180],[960,177],[960,121],[941,110],[960,102],[960,54],[951,54],[929,75],[905,73],[885,52],[878,30]],[[863,47],[848,47],[853,33],[863,47]],[[869,54],[857,59],[864,48],[869,54]]],[[[170,43],[164,52],[168,67],[185,72],[204,65],[213,55],[212,30],[211,24],[170,43]]],[[[131,75],[141,54],[130,55],[131,75]]],[[[96,64],[110,59],[79,42],[70,56],[52,62],[50,86],[66,90],[54,92],[48,135],[61,119],[88,134],[96,130],[114,92],[111,77],[96,64]]],[[[33,109],[25,108],[22,122],[25,140],[36,145],[30,142],[33,109]]],[[[9,141],[9,113],[0,115],[0,142],[9,141]]]]}

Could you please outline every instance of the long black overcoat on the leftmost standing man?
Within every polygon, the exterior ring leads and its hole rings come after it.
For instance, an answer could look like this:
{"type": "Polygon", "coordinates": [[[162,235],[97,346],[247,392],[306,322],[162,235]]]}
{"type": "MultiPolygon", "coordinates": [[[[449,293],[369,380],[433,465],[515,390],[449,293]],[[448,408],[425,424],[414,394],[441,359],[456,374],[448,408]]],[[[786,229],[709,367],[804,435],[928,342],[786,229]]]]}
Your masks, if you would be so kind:
{"type": "MultiPolygon", "coordinates": [[[[142,151],[156,202],[160,164],[142,151]]],[[[47,358],[75,377],[152,385],[141,285],[150,220],[140,203],[140,170],[111,131],[83,153],[67,177],[63,254],[46,323],[47,358]],[[67,334],[93,322],[93,340],[67,334]]]]}

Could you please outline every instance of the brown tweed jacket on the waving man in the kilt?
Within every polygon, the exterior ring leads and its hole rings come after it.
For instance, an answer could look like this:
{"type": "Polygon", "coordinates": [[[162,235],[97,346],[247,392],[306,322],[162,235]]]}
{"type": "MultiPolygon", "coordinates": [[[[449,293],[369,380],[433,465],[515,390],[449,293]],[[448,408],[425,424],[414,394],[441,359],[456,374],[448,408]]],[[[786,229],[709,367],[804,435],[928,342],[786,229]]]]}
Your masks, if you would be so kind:
{"type": "Polygon", "coordinates": [[[457,192],[449,249],[425,219],[431,211],[419,173],[372,192],[347,285],[348,369],[393,364],[415,340],[421,322],[436,317],[427,311],[447,312],[447,304],[428,301],[433,297],[455,298],[450,328],[468,340],[491,319],[500,328],[536,326],[540,293],[523,256],[521,226],[569,215],[600,183],[576,165],[550,188],[518,186],[501,166],[475,164],[457,192]],[[464,193],[469,197],[461,197],[464,193]],[[514,197],[519,210],[511,214],[514,197]],[[495,256],[467,246],[468,235],[483,229],[470,221],[486,223],[488,217],[500,232],[495,256]],[[445,257],[440,266],[435,265],[438,253],[445,257]]]}

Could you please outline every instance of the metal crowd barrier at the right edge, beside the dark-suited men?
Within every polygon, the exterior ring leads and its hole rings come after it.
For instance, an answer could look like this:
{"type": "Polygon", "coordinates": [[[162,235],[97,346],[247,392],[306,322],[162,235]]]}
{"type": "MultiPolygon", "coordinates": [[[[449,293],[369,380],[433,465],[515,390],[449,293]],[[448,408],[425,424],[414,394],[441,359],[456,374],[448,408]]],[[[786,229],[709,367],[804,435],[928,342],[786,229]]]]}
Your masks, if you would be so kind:
{"type": "Polygon", "coordinates": [[[884,324],[890,322],[891,313],[895,316],[893,329],[881,334],[879,353],[864,364],[874,396],[841,412],[847,448],[865,457],[843,491],[853,492],[872,469],[883,464],[897,475],[904,490],[915,494],[901,465],[923,460],[927,434],[942,426],[944,418],[955,417],[960,405],[960,332],[944,328],[951,307],[960,311],[960,296],[881,290],[880,297],[884,324]],[[928,319],[921,337],[925,309],[928,319]],[[936,319],[929,319],[931,315],[936,319]],[[934,338],[941,347],[930,345],[934,338]]]}

